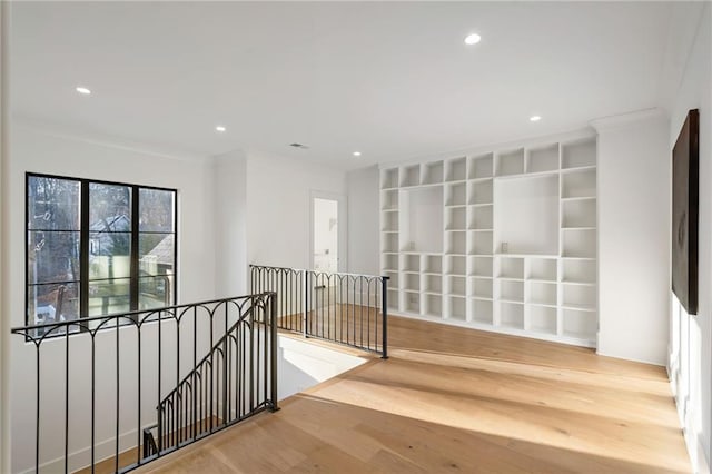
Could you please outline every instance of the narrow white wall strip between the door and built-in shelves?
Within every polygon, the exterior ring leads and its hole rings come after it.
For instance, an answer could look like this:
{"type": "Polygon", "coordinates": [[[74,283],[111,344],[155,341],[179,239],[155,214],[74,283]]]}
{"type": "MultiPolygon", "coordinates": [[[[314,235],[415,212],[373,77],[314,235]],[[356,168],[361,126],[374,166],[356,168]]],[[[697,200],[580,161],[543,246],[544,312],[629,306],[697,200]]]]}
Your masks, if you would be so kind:
{"type": "Polygon", "coordinates": [[[380,275],[378,180],[377,166],[357,169],[346,175],[349,273],[380,275]]]}

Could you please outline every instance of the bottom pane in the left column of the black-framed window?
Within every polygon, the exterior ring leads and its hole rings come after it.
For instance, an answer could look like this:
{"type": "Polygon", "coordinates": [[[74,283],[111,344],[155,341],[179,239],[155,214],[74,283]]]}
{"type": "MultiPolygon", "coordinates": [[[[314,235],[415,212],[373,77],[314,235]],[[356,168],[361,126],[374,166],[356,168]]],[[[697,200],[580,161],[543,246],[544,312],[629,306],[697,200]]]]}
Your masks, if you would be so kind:
{"type": "Polygon", "coordinates": [[[28,323],[44,324],[79,317],[79,285],[76,283],[30,285],[28,323]]]}

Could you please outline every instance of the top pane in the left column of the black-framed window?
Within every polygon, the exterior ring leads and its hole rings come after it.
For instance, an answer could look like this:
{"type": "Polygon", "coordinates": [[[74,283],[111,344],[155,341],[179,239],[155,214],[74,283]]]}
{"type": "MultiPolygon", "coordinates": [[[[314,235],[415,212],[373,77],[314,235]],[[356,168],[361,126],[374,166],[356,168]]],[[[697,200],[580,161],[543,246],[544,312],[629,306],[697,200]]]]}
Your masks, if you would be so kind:
{"type": "Polygon", "coordinates": [[[28,228],[79,230],[79,181],[28,177],[28,228]]]}

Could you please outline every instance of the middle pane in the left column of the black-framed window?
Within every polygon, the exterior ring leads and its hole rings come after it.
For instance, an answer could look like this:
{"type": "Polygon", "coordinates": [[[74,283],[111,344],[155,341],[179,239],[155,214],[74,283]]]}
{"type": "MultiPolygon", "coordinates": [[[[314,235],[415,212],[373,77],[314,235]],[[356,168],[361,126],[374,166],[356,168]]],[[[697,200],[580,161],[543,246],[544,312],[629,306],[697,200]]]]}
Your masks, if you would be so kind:
{"type": "Polygon", "coordinates": [[[79,280],[79,233],[28,233],[27,283],[79,280]]]}

